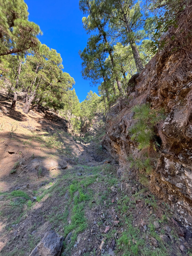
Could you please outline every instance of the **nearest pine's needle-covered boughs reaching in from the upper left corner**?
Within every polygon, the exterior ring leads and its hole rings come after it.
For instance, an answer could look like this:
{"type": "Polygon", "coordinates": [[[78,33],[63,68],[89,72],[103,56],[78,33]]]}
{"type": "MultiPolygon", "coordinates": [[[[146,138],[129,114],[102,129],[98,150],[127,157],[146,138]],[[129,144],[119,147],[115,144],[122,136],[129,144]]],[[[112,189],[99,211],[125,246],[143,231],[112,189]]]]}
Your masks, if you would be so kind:
{"type": "Polygon", "coordinates": [[[0,3],[0,56],[37,50],[40,28],[28,20],[29,13],[23,0],[4,0],[0,3]]]}

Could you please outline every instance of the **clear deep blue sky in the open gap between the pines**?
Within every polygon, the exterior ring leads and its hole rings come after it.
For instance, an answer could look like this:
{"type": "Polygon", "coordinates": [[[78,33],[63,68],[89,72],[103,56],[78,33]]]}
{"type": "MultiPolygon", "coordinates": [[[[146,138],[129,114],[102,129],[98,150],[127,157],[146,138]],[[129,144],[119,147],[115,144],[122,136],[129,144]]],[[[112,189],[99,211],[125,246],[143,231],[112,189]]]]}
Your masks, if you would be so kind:
{"type": "Polygon", "coordinates": [[[81,76],[81,59],[79,50],[87,45],[89,35],[82,25],[83,13],[79,10],[78,0],[25,0],[28,5],[29,20],[40,26],[43,35],[39,37],[42,44],[56,49],[63,60],[63,71],[75,80],[75,91],[81,101],[92,90],[89,81],[81,76]]]}

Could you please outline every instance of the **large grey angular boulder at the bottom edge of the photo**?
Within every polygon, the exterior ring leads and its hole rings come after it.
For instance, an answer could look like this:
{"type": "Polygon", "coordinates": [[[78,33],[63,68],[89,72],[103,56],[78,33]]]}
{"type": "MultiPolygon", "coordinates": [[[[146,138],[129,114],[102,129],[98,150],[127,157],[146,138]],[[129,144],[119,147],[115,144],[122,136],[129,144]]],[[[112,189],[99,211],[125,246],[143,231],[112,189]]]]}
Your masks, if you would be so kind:
{"type": "Polygon", "coordinates": [[[59,256],[64,237],[51,230],[37,244],[29,256],[59,256]]]}

